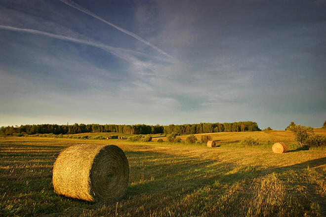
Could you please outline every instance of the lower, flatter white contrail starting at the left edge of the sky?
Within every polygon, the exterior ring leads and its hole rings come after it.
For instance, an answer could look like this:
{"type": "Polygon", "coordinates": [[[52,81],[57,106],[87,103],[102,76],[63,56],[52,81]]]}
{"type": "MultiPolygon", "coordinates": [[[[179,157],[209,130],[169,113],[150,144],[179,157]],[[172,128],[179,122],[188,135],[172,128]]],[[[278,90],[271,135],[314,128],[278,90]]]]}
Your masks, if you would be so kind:
{"type": "Polygon", "coordinates": [[[47,37],[52,37],[52,38],[57,38],[57,39],[61,39],[61,40],[72,41],[72,42],[75,42],[75,43],[80,43],[80,44],[85,44],[85,45],[97,47],[97,48],[100,48],[100,49],[102,49],[102,50],[104,50],[106,52],[112,53],[113,55],[115,55],[115,56],[117,56],[117,57],[119,57],[121,59],[124,59],[124,60],[126,60],[128,62],[131,62],[131,63],[135,64],[135,65],[139,65],[141,67],[145,67],[145,68],[150,69],[151,71],[153,71],[149,67],[149,65],[147,63],[138,60],[137,58],[135,58],[132,55],[126,54],[126,52],[128,52],[128,50],[123,49],[123,48],[108,46],[108,45],[105,45],[105,44],[103,44],[101,42],[98,42],[98,41],[84,40],[84,39],[79,39],[79,38],[74,38],[74,37],[69,37],[69,36],[62,36],[62,35],[47,33],[47,32],[43,32],[43,31],[39,31],[39,30],[22,29],[22,28],[17,28],[17,27],[12,27],[12,26],[2,26],[2,25],[0,25],[0,29],[15,31],[15,32],[25,32],[25,33],[41,35],[41,36],[47,36],[47,37]]]}

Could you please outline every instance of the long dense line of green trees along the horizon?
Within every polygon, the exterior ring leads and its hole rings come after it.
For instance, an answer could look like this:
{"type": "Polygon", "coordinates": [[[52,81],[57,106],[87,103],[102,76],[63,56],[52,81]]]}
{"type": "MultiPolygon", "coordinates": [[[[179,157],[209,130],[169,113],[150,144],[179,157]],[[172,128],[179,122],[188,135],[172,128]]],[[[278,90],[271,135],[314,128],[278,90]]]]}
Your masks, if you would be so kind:
{"type": "Polygon", "coordinates": [[[123,124],[33,124],[21,126],[0,127],[0,134],[77,134],[77,133],[101,133],[113,132],[123,134],[198,134],[198,133],[218,133],[218,132],[244,132],[259,131],[256,122],[243,121],[233,123],[200,123],[182,125],[123,125],[123,124]]]}

